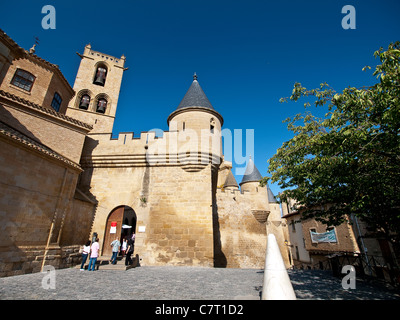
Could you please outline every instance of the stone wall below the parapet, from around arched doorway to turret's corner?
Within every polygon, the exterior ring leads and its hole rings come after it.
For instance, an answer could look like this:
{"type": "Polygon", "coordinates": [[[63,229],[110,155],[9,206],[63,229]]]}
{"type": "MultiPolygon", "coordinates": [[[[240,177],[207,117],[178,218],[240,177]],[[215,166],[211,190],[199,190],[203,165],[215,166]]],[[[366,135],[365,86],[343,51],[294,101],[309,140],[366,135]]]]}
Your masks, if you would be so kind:
{"type": "Polygon", "coordinates": [[[206,167],[186,172],[179,166],[94,168],[90,192],[99,204],[92,232],[98,233],[100,246],[108,215],[127,205],[137,216],[135,254],[142,265],[212,266],[210,171],[206,167]]]}

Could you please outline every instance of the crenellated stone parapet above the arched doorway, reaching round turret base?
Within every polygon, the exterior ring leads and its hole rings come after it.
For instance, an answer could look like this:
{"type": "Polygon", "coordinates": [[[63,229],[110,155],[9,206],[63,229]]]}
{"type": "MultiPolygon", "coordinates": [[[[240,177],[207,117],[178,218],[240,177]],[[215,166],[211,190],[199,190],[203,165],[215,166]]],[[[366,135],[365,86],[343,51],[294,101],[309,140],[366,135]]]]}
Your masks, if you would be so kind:
{"type": "Polygon", "coordinates": [[[107,133],[89,134],[81,164],[84,167],[139,167],[181,166],[185,171],[200,171],[209,163],[221,163],[220,145],[211,137],[184,139],[179,131],[166,131],[157,136],[156,131],[120,132],[118,136],[107,133]],[[210,139],[207,139],[210,138],[210,139]]]}

